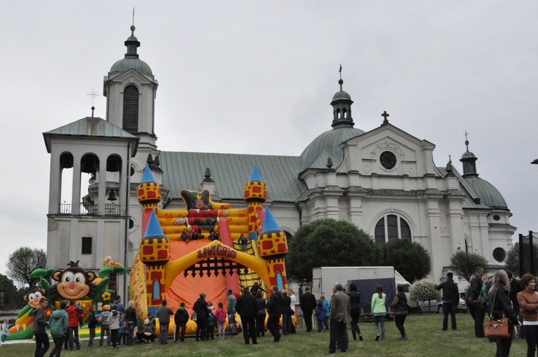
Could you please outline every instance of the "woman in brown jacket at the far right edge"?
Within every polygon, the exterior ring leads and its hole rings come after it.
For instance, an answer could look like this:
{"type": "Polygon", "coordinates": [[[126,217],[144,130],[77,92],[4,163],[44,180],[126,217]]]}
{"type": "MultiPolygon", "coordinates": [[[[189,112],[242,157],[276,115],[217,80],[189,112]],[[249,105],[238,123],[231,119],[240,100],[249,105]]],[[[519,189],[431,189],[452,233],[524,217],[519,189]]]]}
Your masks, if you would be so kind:
{"type": "Polygon", "coordinates": [[[521,285],[525,287],[523,292],[518,292],[518,303],[523,315],[525,326],[525,339],[527,339],[527,357],[534,357],[538,342],[538,293],[534,275],[525,274],[521,277],[521,285]]]}

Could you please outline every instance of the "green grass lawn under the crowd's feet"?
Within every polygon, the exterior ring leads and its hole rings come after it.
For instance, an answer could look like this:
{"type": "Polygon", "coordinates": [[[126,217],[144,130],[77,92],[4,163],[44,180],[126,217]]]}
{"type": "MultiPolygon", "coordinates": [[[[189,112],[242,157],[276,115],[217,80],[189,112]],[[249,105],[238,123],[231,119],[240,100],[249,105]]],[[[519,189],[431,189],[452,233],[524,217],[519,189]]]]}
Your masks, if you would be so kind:
{"type": "MultiPolygon", "coordinates": [[[[386,339],[374,341],[373,322],[360,322],[363,342],[353,341],[349,332],[350,344],[347,356],[494,356],[495,344],[487,339],[477,339],[474,334],[473,320],[468,313],[456,315],[458,331],[442,331],[442,315],[437,313],[412,314],[406,320],[408,341],[401,341],[394,321],[387,321],[386,339]]],[[[302,320],[299,319],[302,325],[302,320]]],[[[81,351],[62,351],[62,356],[323,356],[329,348],[329,334],[309,332],[299,326],[297,333],[283,336],[275,344],[270,334],[258,339],[257,345],[245,345],[242,335],[227,336],[224,341],[215,339],[209,342],[195,342],[186,339],[183,344],[169,340],[167,345],[135,344],[132,347],[119,346],[86,347],[82,342],[81,351]]],[[[6,344],[0,347],[0,356],[33,356],[35,344],[6,344]]],[[[512,344],[511,356],[525,356],[525,339],[516,339],[512,344]]],[[[48,351],[48,353],[50,350],[48,351]]],[[[46,356],[48,356],[48,353],[46,356]]],[[[339,354],[339,352],[337,352],[339,354]]]]}

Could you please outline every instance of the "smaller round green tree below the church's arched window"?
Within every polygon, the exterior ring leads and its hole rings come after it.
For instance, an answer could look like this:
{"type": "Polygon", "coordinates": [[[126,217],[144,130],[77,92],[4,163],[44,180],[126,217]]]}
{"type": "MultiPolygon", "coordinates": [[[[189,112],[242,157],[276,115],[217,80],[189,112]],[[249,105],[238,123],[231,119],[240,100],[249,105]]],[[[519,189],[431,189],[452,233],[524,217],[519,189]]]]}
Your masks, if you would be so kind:
{"type": "Polygon", "coordinates": [[[408,282],[430,274],[432,261],[427,250],[411,239],[394,239],[382,245],[382,265],[394,266],[408,282]]]}

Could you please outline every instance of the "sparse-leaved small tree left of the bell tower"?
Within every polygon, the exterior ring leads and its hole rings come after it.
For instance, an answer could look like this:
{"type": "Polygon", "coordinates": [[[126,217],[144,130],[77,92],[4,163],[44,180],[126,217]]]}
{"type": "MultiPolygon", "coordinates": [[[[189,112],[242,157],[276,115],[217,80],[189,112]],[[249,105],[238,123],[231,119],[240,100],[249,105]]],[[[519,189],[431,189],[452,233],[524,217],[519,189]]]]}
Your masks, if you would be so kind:
{"type": "Polygon", "coordinates": [[[28,284],[28,287],[32,288],[39,282],[39,278],[30,275],[34,270],[44,268],[45,265],[46,254],[43,249],[21,246],[8,258],[8,277],[11,277],[15,282],[28,284]]]}

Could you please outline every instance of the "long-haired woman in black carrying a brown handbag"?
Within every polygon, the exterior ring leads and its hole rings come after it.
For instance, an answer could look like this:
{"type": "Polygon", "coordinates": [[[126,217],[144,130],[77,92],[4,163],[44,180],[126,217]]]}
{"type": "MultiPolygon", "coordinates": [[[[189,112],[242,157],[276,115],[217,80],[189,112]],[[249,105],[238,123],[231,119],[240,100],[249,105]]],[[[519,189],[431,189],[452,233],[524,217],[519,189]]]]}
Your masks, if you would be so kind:
{"type": "Polygon", "coordinates": [[[489,320],[486,324],[486,337],[490,330],[500,330],[501,327],[506,328],[506,334],[503,337],[495,337],[496,339],[496,357],[510,356],[510,347],[512,345],[512,332],[514,325],[520,325],[518,316],[512,308],[510,301],[510,281],[504,270],[497,270],[494,275],[492,288],[489,289],[489,296],[492,296],[492,311],[489,314],[489,320]],[[503,325],[502,320],[508,318],[507,326],[503,325]]]}

